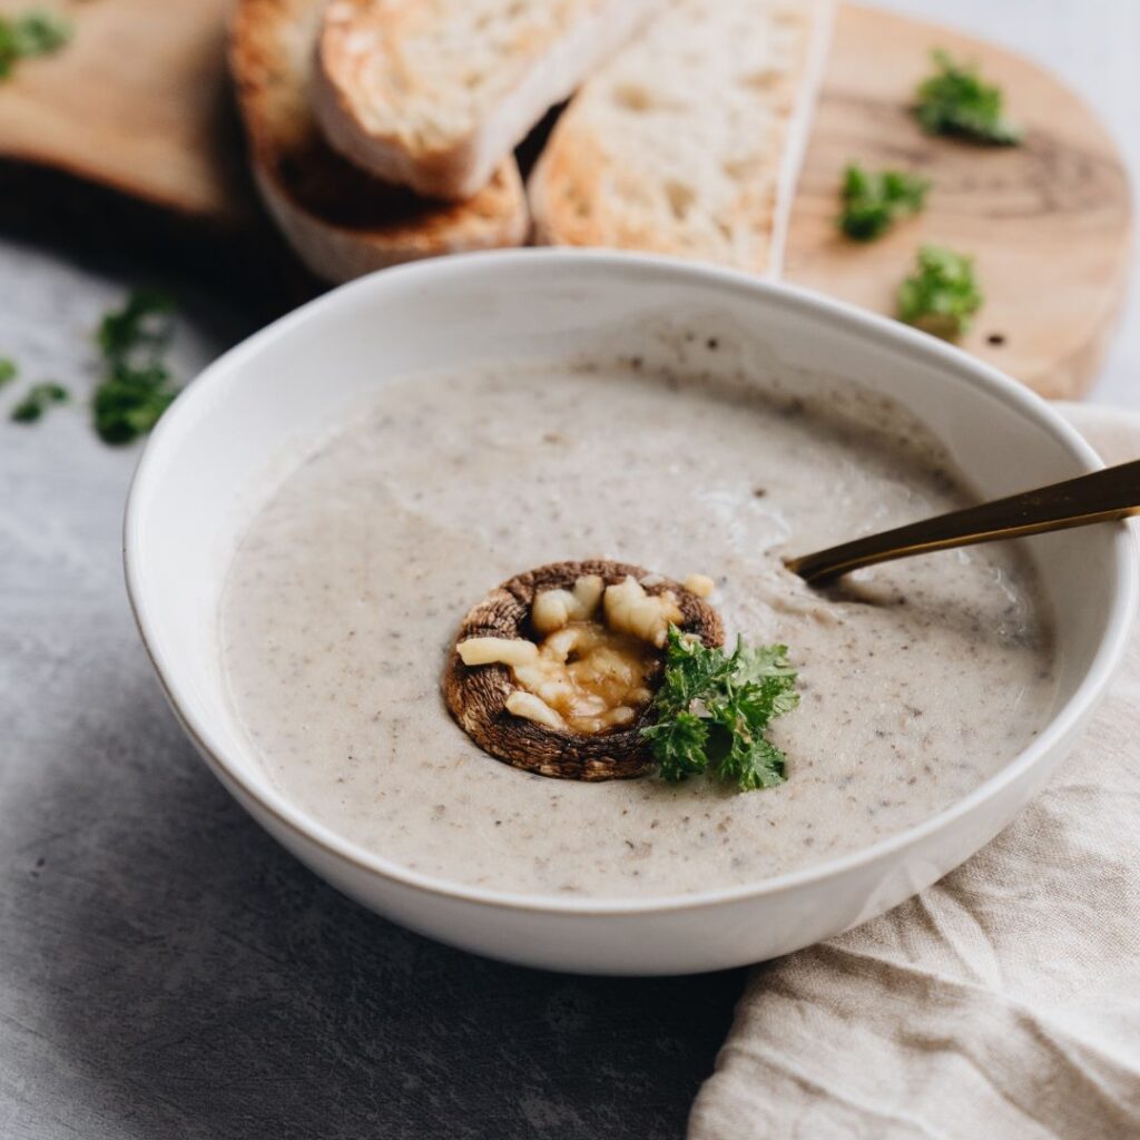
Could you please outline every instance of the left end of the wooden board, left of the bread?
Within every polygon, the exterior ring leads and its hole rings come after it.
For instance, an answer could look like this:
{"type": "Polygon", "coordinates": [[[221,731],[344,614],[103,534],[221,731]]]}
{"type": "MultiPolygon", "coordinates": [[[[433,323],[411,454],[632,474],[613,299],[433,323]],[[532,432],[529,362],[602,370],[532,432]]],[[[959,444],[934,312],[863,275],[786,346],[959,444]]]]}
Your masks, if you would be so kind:
{"type": "MultiPolygon", "coordinates": [[[[0,13],[27,0],[0,0],[0,13]]],[[[254,205],[226,73],[229,0],[50,3],[75,33],[0,83],[0,157],[221,227],[254,205]]],[[[0,214],[2,218],[2,214],[0,214]]]]}

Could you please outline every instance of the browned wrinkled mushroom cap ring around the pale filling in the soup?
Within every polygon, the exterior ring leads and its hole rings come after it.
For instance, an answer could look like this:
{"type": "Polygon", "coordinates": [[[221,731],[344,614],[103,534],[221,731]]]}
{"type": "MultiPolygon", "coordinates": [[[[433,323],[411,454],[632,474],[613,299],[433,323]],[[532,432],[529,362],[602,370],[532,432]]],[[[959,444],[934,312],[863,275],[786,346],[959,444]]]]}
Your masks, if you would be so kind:
{"type": "MultiPolygon", "coordinates": [[[[459,625],[443,674],[443,695],[459,727],[483,751],[516,768],[560,780],[630,780],[648,774],[653,759],[642,727],[651,722],[651,707],[625,728],[593,736],[546,728],[506,710],[506,699],[518,687],[505,665],[466,666],[456,645],[469,637],[532,637],[530,608],[544,589],[571,589],[584,575],[600,575],[614,586],[632,575],[638,581],[649,570],[625,562],[594,560],[552,562],[516,575],[497,586],[459,625]]],[[[706,601],[678,583],[652,576],[648,594],[673,591],[684,614],[681,628],[708,645],[724,644],[720,616],[706,601]]]]}

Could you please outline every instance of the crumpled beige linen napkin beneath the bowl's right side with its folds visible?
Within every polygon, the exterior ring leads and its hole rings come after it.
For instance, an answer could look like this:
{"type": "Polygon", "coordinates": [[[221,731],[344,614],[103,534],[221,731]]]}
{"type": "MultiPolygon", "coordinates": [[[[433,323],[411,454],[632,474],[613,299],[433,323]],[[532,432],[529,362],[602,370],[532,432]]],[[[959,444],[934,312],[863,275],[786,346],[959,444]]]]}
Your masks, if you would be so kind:
{"type": "MultiPolygon", "coordinates": [[[[1106,462],[1140,417],[1062,410],[1106,462]]],[[[1140,1138],[1140,634],[1088,735],[988,847],[758,966],[690,1140],[1140,1138]]]]}

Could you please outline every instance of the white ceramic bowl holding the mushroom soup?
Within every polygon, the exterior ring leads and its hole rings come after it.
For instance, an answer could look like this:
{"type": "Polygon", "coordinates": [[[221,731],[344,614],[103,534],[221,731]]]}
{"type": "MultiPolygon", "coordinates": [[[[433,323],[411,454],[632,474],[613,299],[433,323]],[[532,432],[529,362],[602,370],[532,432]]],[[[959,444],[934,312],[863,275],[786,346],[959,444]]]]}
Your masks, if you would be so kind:
{"type": "Polygon", "coordinates": [[[1042,400],[933,337],[677,261],[515,251],[423,262],[355,282],[258,333],[207,368],[150,439],[127,510],[128,588],[170,702],[211,771],[364,905],[443,942],[553,969],[673,974],[772,958],[880,914],[972,855],[1048,780],[1096,706],[1124,649],[1137,583],[1131,536],[1109,524],[1031,540],[1061,654],[1051,722],[970,796],[842,858],[676,898],[521,897],[408,871],[284,798],[243,741],[217,648],[219,591],[250,488],[283,447],[409,370],[652,352],[663,326],[686,325],[716,328],[744,359],[839,372],[889,393],[936,430],[985,496],[1100,466],[1042,400]]]}

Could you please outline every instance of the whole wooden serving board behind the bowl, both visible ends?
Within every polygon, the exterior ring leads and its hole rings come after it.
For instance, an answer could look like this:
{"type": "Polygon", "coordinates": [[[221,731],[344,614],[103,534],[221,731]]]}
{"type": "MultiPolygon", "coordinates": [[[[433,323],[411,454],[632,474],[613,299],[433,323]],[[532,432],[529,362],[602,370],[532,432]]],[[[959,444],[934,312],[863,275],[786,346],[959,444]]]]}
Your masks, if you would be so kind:
{"type": "MultiPolygon", "coordinates": [[[[0,84],[0,157],[96,181],[211,227],[254,215],[225,67],[229,0],[71,0],[74,41],[0,84]]],[[[0,0],[0,11],[26,7],[0,0]]],[[[2,205],[0,205],[2,210],[2,205]]],[[[0,214],[2,219],[2,214],[0,214]]],[[[1077,397],[1108,343],[1130,263],[1127,179],[1104,127],[1048,72],[930,24],[840,7],[785,274],[881,312],[921,242],[974,253],[987,296],[963,347],[1047,396],[1077,397]],[[1025,144],[923,136],[906,112],[929,51],[977,60],[1025,144]],[[928,209],[881,242],[840,238],[844,165],[918,169],[928,209]]]]}

